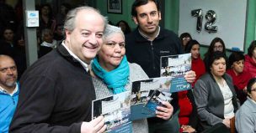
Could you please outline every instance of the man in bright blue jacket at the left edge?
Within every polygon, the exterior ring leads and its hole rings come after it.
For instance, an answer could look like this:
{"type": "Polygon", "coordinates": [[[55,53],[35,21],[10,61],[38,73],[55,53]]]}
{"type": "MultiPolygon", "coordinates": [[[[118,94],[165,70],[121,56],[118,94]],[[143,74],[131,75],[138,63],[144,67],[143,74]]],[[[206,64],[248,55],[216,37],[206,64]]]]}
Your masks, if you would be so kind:
{"type": "Polygon", "coordinates": [[[18,72],[14,60],[0,54],[0,132],[8,133],[19,99],[18,72]]]}

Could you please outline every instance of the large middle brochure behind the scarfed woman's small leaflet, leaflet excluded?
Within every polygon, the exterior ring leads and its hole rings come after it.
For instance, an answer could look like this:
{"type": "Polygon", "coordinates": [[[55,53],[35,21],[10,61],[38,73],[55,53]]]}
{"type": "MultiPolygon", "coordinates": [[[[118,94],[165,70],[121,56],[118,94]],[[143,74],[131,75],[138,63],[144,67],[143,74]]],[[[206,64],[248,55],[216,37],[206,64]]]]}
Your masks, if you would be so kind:
{"type": "Polygon", "coordinates": [[[152,95],[154,90],[157,90],[161,92],[161,94],[170,97],[170,82],[171,77],[159,77],[132,82],[131,120],[156,116],[155,111],[148,110],[148,106],[146,106],[149,97],[152,95]]]}

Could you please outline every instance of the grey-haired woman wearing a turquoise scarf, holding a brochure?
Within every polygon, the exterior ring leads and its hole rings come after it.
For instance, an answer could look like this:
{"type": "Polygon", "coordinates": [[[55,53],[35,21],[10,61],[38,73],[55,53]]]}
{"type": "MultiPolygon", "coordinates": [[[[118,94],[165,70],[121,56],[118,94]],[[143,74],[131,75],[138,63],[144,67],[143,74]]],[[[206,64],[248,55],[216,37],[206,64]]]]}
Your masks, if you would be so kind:
{"type": "MultiPolygon", "coordinates": [[[[93,59],[92,71],[96,98],[103,98],[131,91],[131,82],[148,79],[138,64],[129,64],[125,57],[125,35],[120,28],[108,25],[104,31],[104,44],[97,58],[93,59]]],[[[157,117],[170,119],[173,106],[163,102],[157,107],[157,117]]],[[[147,119],[133,121],[134,132],[148,132],[147,119]]]]}

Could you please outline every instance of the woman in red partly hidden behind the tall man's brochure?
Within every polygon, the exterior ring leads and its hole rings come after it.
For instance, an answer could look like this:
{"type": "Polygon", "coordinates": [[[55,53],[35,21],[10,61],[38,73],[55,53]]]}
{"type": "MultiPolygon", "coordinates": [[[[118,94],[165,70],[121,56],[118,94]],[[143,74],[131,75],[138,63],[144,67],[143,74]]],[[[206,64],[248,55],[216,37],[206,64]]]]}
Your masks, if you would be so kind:
{"type": "MultiPolygon", "coordinates": [[[[196,77],[192,86],[202,74],[205,74],[205,64],[200,59],[200,43],[196,40],[190,40],[186,47],[185,53],[191,53],[192,70],[195,71],[196,77]]],[[[198,117],[195,106],[195,99],[192,90],[180,91],[179,97],[179,124],[181,125],[180,132],[193,132],[197,128],[198,117]]]]}

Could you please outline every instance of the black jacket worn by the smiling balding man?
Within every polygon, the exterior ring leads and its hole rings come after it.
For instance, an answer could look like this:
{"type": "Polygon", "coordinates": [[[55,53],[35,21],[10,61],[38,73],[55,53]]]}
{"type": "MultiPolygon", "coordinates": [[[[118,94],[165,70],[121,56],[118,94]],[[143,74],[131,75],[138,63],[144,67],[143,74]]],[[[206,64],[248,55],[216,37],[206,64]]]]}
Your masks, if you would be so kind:
{"type": "Polygon", "coordinates": [[[91,76],[61,44],[32,64],[20,80],[10,132],[80,132],[91,120],[91,76]]]}

